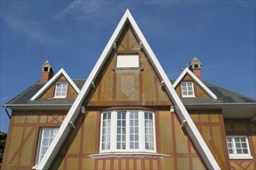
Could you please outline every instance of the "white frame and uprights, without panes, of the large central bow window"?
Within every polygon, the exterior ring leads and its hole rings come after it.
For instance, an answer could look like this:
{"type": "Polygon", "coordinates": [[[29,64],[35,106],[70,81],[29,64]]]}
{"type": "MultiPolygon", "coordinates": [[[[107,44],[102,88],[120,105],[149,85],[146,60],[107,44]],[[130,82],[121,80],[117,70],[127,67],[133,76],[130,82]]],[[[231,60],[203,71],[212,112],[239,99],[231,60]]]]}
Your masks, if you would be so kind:
{"type": "Polygon", "coordinates": [[[107,110],[101,112],[101,120],[100,120],[100,140],[99,140],[99,153],[127,153],[127,152],[148,152],[148,153],[156,153],[156,132],[155,132],[155,113],[154,111],[150,110],[107,110]],[[118,112],[126,112],[126,149],[117,149],[117,113],[118,112]],[[139,130],[139,148],[138,149],[131,149],[130,148],[130,113],[137,112],[138,113],[138,130],[139,130]],[[102,121],[103,121],[103,114],[111,115],[111,123],[110,123],[110,148],[109,149],[102,149],[102,121]],[[152,114],[152,121],[153,121],[153,140],[154,140],[154,149],[146,149],[145,144],[145,126],[144,126],[144,116],[145,113],[152,114]]]}

